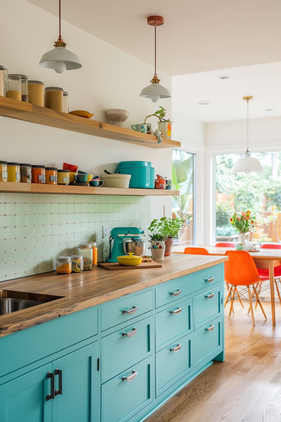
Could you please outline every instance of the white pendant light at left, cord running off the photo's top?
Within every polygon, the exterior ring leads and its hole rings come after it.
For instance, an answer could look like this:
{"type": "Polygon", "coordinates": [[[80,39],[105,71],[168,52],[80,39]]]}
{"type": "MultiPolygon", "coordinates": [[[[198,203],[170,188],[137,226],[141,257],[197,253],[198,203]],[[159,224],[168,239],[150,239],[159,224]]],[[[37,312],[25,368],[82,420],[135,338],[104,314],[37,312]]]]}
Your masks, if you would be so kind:
{"type": "Polygon", "coordinates": [[[78,56],[67,50],[65,46],[66,43],[61,37],[61,0],[59,0],[59,38],[54,43],[55,48],[43,54],[39,64],[44,68],[54,69],[56,73],[81,68],[78,56]]]}

